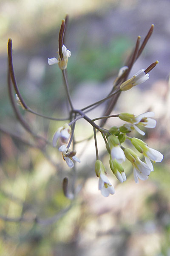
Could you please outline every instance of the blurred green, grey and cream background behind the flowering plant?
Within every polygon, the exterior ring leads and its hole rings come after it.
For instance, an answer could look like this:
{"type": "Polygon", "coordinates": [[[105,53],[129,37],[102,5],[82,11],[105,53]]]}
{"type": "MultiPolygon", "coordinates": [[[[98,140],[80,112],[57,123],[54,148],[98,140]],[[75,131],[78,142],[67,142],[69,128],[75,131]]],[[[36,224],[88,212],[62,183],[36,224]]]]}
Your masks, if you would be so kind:
{"type": "MultiPolygon", "coordinates": [[[[170,256],[169,10],[169,0],[0,1],[0,255],[170,256]],[[155,25],[130,75],[156,60],[159,64],[147,82],[122,93],[112,113],[155,112],[157,126],[148,129],[143,139],[161,151],[164,160],[154,164],[154,172],[139,184],[125,163],[128,179],[118,183],[98,134],[99,155],[116,189],[108,198],[98,191],[94,140],[77,143],[81,164],[72,172],[57,148],[50,144],[44,148],[42,139],[35,139],[20,125],[8,97],[6,48],[12,38],[14,71],[27,105],[47,116],[68,116],[61,71],[47,63],[48,58],[57,57],[59,26],[66,14],[65,44],[71,50],[67,72],[75,108],[110,92],[137,36],[143,40],[155,25]],[[73,202],[63,195],[64,177],[68,177],[69,191],[73,184],[76,187],[73,202]],[[32,221],[36,216],[39,223],[32,221]]],[[[88,115],[101,116],[104,107],[88,115]]],[[[65,123],[18,109],[34,133],[50,143],[65,123]]],[[[109,119],[105,128],[120,124],[109,119]]],[[[91,125],[77,122],[76,141],[92,134],[91,125]]]]}

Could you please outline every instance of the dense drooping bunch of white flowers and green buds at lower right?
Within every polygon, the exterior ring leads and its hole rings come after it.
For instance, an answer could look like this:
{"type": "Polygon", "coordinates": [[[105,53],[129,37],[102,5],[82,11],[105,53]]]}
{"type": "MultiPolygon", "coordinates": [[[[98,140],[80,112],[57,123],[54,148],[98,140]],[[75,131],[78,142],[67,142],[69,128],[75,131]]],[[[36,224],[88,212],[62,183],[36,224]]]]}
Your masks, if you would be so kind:
{"type": "MultiPolygon", "coordinates": [[[[121,183],[126,180],[125,171],[122,167],[122,163],[125,162],[126,159],[129,160],[133,166],[133,175],[136,183],[139,183],[139,179],[147,180],[150,172],[153,171],[153,164],[151,161],[155,163],[161,162],[163,159],[163,154],[153,148],[149,148],[144,141],[135,137],[131,138],[127,136],[127,134],[133,129],[142,135],[145,134],[144,131],[141,131],[136,125],[154,128],[156,126],[156,120],[150,118],[153,116],[153,112],[142,113],[139,116],[135,116],[130,113],[120,113],[119,118],[128,123],[121,127],[113,126],[108,131],[108,134],[106,134],[106,148],[110,154],[110,168],[121,183]],[[145,162],[143,162],[131,148],[124,148],[121,145],[127,139],[130,140],[137,151],[144,156],[145,162]]],[[[96,175],[99,177],[99,190],[101,190],[102,195],[108,196],[109,194],[113,194],[112,185],[108,178],[106,179],[105,167],[102,162],[96,160],[96,166],[96,175]],[[107,192],[103,192],[106,190],[107,192]]]]}

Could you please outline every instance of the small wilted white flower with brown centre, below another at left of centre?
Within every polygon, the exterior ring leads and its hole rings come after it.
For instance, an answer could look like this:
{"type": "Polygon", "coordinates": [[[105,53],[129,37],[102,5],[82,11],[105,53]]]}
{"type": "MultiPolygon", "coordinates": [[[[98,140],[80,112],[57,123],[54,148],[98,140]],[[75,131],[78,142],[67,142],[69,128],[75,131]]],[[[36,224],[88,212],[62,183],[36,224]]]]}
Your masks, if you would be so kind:
{"type": "Polygon", "coordinates": [[[70,148],[66,148],[65,145],[60,146],[58,150],[62,152],[62,157],[65,160],[65,162],[67,163],[69,168],[74,167],[73,160],[80,163],[79,158],[77,156],[75,156],[76,151],[72,151],[70,148]]]}

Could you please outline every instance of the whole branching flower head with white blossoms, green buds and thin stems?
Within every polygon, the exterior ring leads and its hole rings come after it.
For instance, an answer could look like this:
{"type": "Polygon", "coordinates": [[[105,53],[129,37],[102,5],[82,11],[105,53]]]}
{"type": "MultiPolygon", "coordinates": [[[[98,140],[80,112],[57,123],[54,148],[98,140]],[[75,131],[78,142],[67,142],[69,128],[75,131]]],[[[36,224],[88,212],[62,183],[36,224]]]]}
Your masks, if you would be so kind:
{"type": "MultiPolygon", "coordinates": [[[[154,26],[152,25],[148,35],[151,35],[153,31],[153,27],[154,26]]],[[[116,93],[130,90],[132,87],[136,86],[137,84],[144,83],[145,81],[147,81],[147,79],[149,79],[150,70],[152,70],[159,63],[159,61],[155,61],[145,70],[144,69],[139,70],[139,72],[134,74],[132,78],[125,81],[134,61],[136,60],[135,57],[136,56],[138,57],[140,55],[139,53],[141,53],[141,49],[143,49],[143,48],[139,48],[140,38],[141,38],[139,36],[136,42],[135,51],[133,52],[133,55],[130,58],[130,63],[119,70],[118,76],[114,81],[114,87],[112,91],[113,93],[110,93],[104,99],[98,102],[95,102],[89,105],[88,107],[83,108],[82,110],[77,110],[77,109],[74,109],[74,106],[72,104],[72,100],[71,100],[71,96],[68,88],[67,77],[65,75],[65,72],[63,71],[67,68],[68,58],[71,56],[71,52],[64,45],[64,32],[65,32],[65,20],[62,20],[61,29],[59,31],[59,51],[58,51],[59,58],[58,59],[48,58],[48,64],[49,65],[58,64],[59,68],[62,70],[68,102],[71,107],[70,116],[72,116],[73,113],[75,113],[75,116],[76,116],[74,120],[71,120],[70,124],[76,122],[80,118],[84,118],[87,122],[89,122],[94,127],[94,139],[95,139],[96,159],[97,159],[95,164],[95,171],[96,171],[96,176],[99,177],[99,190],[101,191],[102,195],[104,195],[105,197],[108,197],[108,195],[110,194],[113,195],[115,190],[111,182],[108,180],[108,177],[106,176],[107,173],[105,170],[105,166],[103,165],[102,161],[99,160],[97,141],[96,141],[96,129],[101,132],[102,137],[105,140],[106,148],[110,156],[109,165],[110,165],[111,171],[116,176],[116,178],[121,183],[126,181],[126,174],[125,174],[125,170],[123,169],[122,163],[125,162],[126,160],[129,160],[133,166],[134,180],[136,183],[139,183],[139,179],[147,180],[147,178],[150,175],[150,172],[153,171],[152,162],[154,163],[161,162],[163,159],[163,154],[161,154],[159,151],[156,151],[153,148],[149,148],[147,144],[144,143],[142,140],[139,140],[138,138],[135,138],[135,137],[133,138],[129,137],[127,134],[131,133],[131,131],[133,130],[136,130],[139,134],[145,135],[143,128],[155,128],[156,120],[152,118],[154,116],[154,113],[146,112],[138,116],[131,113],[120,113],[115,116],[119,117],[119,119],[125,121],[126,123],[120,127],[113,126],[110,130],[106,130],[102,127],[99,127],[99,125],[96,125],[96,123],[94,122],[94,120],[97,120],[100,118],[96,118],[92,120],[85,114],[86,112],[83,112],[83,111],[88,108],[90,109],[94,105],[97,106],[98,104],[111,98],[111,96],[115,95],[116,93]],[[136,154],[135,151],[133,151],[131,148],[125,148],[124,146],[122,146],[122,143],[124,143],[126,140],[130,140],[131,144],[136,148],[136,150],[140,154],[142,154],[144,161],[142,161],[139,155],[136,154]]],[[[145,38],[145,41],[144,41],[145,44],[149,38],[148,35],[145,38]]],[[[102,116],[101,118],[108,118],[108,117],[111,117],[111,116],[109,115],[102,116]]],[[[74,161],[80,163],[79,158],[76,157],[75,155],[76,151],[71,150],[69,148],[71,145],[71,141],[73,140],[73,132],[71,134],[71,127],[68,124],[65,124],[62,127],[57,129],[52,139],[52,145],[56,146],[58,140],[60,140],[60,143],[62,144],[68,143],[67,146],[61,145],[59,147],[59,151],[62,152],[62,157],[67,163],[68,167],[72,168],[74,166],[74,161]]]]}

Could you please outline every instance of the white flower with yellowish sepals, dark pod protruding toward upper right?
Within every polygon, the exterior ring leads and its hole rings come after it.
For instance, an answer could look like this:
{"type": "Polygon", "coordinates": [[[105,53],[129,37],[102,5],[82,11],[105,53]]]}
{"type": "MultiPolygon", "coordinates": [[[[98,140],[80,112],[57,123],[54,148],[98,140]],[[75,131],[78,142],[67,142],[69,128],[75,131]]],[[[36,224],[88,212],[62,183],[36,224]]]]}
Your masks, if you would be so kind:
{"type": "Polygon", "coordinates": [[[149,79],[149,74],[144,73],[144,69],[139,70],[132,78],[123,82],[120,86],[122,91],[130,90],[133,86],[137,84],[144,83],[147,79],[149,79]]]}

